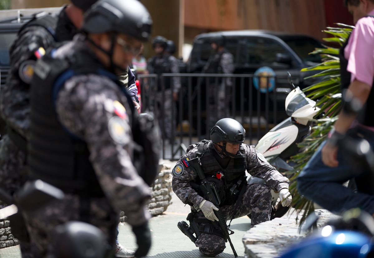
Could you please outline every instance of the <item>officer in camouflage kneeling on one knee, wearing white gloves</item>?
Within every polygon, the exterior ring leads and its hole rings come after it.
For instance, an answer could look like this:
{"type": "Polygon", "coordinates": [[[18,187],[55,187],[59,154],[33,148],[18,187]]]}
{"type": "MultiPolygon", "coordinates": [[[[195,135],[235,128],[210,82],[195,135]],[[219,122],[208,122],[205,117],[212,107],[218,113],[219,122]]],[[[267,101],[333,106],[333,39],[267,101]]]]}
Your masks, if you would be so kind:
{"type": "Polygon", "coordinates": [[[215,256],[223,252],[225,235],[217,225],[215,211],[220,210],[226,220],[252,215],[251,225],[270,219],[270,189],[279,191],[283,206],[291,204],[288,178],[271,166],[254,146],[243,143],[245,130],[232,118],[219,120],[210,132],[210,141],[203,140],[187,148],[173,169],[172,187],[185,204],[191,205],[187,220],[193,223],[194,242],[200,252],[215,256]],[[189,160],[199,156],[204,175],[217,187],[220,206],[203,198],[196,168],[189,160]],[[262,178],[266,184],[247,185],[245,171],[262,178]]]}

